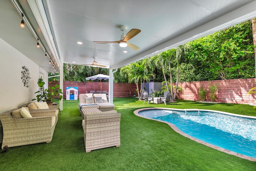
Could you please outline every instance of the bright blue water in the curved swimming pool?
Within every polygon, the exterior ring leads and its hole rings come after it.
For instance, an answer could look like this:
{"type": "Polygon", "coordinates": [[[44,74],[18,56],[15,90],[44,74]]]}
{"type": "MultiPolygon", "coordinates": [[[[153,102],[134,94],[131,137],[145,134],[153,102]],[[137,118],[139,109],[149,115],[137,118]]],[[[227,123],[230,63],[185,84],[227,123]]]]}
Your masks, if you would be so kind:
{"type": "Polygon", "coordinates": [[[256,158],[256,119],[198,110],[153,109],[139,114],[172,123],[184,133],[212,145],[256,158]]]}

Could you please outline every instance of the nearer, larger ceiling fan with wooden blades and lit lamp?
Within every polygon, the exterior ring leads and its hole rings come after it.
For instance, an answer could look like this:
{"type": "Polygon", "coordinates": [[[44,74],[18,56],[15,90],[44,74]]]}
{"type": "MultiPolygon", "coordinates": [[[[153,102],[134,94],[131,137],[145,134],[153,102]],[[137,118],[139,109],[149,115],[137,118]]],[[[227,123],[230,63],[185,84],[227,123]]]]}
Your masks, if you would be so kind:
{"type": "Polygon", "coordinates": [[[139,50],[140,48],[138,46],[135,46],[133,44],[128,43],[128,40],[130,40],[131,38],[133,38],[134,36],[139,34],[141,30],[133,28],[126,35],[124,34],[124,32],[127,30],[126,26],[121,26],[120,30],[123,31],[123,34],[121,35],[120,40],[114,41],[114,42],[95,42],[95,43],[101,43],[101,44],[105,44],[105,43],[118,43],[120,47],[125,48],[125,47],[128,46],[129,48],[132,48],[133,50],[139,50]]]}

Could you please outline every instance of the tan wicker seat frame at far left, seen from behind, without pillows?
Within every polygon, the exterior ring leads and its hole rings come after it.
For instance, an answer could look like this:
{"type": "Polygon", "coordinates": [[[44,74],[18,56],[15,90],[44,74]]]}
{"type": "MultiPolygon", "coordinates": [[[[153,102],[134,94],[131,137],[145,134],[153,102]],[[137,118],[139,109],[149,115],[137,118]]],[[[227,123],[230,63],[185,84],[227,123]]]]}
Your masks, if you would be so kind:
{"type": "Polygon", "coordinates": [[[12,109],[0,114],[3,128],[2,148],[16,147],[35,143],[50,143],[56,126],[55,111],[45,109],[30,110],[32,117],[16,118],[11,115],[12,109]]]}

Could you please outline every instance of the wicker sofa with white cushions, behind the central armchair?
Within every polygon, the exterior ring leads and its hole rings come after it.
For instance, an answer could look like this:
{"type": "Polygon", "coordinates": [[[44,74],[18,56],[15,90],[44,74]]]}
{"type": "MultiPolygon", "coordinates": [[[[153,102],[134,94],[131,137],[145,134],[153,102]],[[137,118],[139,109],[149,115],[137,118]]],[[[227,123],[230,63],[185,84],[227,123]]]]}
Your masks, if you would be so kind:
{"type": "Polygon", "coordinates": [[[81,109],[84,108],[98,108],[100,111],[114,110],[115,105],[108,103],[108,97],[106,94],[92,94],[84,93],[79,94],[78,108],[82,115],[81,109]]]}

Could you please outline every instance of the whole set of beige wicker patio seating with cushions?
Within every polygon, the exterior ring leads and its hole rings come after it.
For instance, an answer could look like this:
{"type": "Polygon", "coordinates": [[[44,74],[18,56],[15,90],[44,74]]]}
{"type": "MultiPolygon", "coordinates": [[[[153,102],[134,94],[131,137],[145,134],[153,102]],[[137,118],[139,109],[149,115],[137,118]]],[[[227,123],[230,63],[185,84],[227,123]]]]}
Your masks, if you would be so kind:
{"type": "MultiPolygon", "coordinates": [[[[105,93],[80,94],[79,111],[84,130],[85,151],[120,147],[120,117],[105,93]]],[[[58,121],[58,105],[46,102],[27,103],[0,114],[4,146],[16,147],[50,143],[58,121]]],[[[1,124],[0,124],[1,125],[1,124]]],[[[0,142],[1,143],[1,142],[0,142]]]]}

